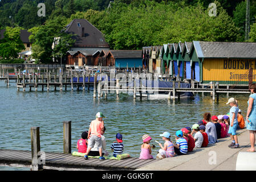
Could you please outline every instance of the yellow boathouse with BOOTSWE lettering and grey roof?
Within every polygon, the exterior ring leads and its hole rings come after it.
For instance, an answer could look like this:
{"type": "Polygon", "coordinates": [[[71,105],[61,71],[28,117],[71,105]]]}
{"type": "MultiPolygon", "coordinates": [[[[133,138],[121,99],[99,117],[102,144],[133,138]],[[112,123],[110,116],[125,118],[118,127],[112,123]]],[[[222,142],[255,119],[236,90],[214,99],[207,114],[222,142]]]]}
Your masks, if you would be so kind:
{"type": "Polygon", "coordinates": [[[249,69],[256,69],[256,43],[193,41],[189,57],[201,84],[248,85],[249,69]]]}

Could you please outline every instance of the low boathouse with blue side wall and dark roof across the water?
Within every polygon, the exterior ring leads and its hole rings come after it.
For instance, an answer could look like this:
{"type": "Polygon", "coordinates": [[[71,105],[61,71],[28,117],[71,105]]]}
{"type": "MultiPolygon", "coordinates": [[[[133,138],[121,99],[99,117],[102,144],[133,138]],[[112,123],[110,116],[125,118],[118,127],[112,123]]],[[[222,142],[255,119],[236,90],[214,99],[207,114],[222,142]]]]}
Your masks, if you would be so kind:
{"type": "Polygon", "coordinates": [[[116,68],[143,68],[141,50],[110,50],[106,56],[107,66],[116,68]]]}

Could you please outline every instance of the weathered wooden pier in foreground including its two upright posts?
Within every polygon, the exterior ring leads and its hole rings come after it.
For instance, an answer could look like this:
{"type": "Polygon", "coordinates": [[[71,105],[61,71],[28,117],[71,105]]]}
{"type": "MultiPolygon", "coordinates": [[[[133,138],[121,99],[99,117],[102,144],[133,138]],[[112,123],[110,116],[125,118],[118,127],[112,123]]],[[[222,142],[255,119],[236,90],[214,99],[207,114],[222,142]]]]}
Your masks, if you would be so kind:
{"type": "Polygon", "coordinates": [[[71,155],[71,121],[63,122],[63,153],[40,149],[39,127],[31,127],[31,151],[0,149],[0,166],[29,167],[32,171],[54,170],[135,170],[158,159],[99,160],[71,155]]]}

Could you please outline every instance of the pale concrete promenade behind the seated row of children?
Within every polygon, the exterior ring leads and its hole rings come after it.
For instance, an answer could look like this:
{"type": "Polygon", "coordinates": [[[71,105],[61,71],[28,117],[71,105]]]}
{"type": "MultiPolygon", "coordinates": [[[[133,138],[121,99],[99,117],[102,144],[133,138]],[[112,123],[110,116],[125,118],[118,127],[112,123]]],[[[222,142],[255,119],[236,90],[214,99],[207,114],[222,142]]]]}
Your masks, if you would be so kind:
{"type": "Polygon", "coordinates": [[[231,143],[230,137],[221,138],[216,144],[208,145],[208,147],[194,148],[188,155],[176,155],[173,158],[161,159],[136,170],[234,171],[238,153],[246,152],[250,147],[249,131],[238,129],[237,134],[241,148],[229,148],[227,146],[231,143]]]}

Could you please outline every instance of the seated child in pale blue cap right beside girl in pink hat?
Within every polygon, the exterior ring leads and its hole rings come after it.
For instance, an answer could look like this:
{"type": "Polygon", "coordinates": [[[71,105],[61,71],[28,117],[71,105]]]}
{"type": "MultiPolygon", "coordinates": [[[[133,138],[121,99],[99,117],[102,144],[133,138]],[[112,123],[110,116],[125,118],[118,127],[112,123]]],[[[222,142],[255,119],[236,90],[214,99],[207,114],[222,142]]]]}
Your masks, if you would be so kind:
{"type": "Polygon", "coordinates": [[[164,147],[162,147],[162,144],[159,143],[159,146],[161,147],[159,149],[159,154],[162,156],[162,158],[172,158],[174,156],[174,148],[173,143],[170,140],[170,133],[164,132],[163,134],[160,134],[160,137],[162,137],[162,140],[164,140],[164,147]]]}

